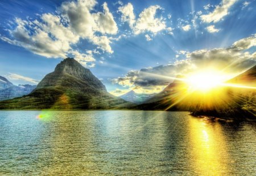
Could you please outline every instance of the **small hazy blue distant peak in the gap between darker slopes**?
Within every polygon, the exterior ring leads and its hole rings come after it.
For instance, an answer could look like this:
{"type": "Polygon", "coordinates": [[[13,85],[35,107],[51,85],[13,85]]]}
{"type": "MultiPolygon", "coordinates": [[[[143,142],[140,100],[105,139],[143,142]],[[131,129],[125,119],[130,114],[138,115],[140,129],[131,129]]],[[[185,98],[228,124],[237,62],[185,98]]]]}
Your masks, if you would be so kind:
{"type": "Polygon", "coordinates": [[[125,93],[124,95],[119,96],[123,100],[133,102],[135,104],[142,104],[144,101],[148,100],[152,96],[156,95],[156,93],[146,94],[146,93],[136,93],[133,90],[125,93]]]}

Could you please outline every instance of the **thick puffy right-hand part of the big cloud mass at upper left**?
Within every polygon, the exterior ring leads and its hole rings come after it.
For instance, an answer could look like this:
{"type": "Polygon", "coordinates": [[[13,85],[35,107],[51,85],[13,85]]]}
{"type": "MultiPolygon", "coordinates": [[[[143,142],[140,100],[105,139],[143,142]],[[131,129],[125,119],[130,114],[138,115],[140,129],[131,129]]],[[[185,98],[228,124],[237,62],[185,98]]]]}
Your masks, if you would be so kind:
{"type": "Polygon", "coordinates": [[[118,31],[117,24],[113,15],[109,12],[106,3],[103,6],[103,12],[92,13],[96,1],[64,2],[59,10],[67,18],[71,28],[82,38],[87,38],[98,48],[113,53],[110,46],[110,40],[105,34],[115,35],[118,31]],[[96,36],[95,32],[100,32],[102,36],[96,36]]]}

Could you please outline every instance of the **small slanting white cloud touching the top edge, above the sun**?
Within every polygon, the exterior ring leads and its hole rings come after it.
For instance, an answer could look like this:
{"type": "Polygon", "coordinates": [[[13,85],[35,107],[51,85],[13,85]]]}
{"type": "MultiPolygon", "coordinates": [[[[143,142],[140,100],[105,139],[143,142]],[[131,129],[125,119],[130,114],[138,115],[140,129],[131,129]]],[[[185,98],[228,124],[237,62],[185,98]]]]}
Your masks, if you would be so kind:
{"type": "MultiPolygon", "coordinates": [[[[217,5],[213,12],[207,15],[201,15],[200,18],[204,23],[217,23],[229,14],[229,8],[234,5],[238,0],[222,0],[220,5],[217,5]]],[[[204,6],[208,10],[210,6],[204,6]]]]}

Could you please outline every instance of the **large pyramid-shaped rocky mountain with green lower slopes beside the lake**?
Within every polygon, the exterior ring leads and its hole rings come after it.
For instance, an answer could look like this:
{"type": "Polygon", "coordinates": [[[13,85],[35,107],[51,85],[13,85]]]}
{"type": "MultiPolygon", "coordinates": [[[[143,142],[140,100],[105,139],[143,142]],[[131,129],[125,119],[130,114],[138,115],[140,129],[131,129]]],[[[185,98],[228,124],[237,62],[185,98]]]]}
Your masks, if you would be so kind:
{"type": "Polygon", "coordinates": [[[73,58],[61,61],[27,96],[1,101],[0,109],[125,109],[130,102],[110,95],[105,85],[73,58]]]}

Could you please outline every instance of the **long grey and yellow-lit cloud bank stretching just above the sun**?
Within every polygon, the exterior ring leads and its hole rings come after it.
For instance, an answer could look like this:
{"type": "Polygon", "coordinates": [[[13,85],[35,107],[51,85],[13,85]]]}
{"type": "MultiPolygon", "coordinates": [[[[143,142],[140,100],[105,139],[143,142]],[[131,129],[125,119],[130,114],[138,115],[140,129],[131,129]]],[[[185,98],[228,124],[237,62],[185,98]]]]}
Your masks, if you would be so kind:
{"type": "Polygon", "coordinates": [[[249,53],[247,49],[256,46],[256,35],[234,42],[228,48],[202,49],[189,53],[177,51],[186,56],[181,61],[157,67],[148,67],[141,70],[131,70],[125,76],[113,79],[113,83],[123,87],[164,87],[177,75],[186,75],[193,71],[208,68],[217,68],[227,75],[234,76],[256,65],[256,52],[249,53]]]}

